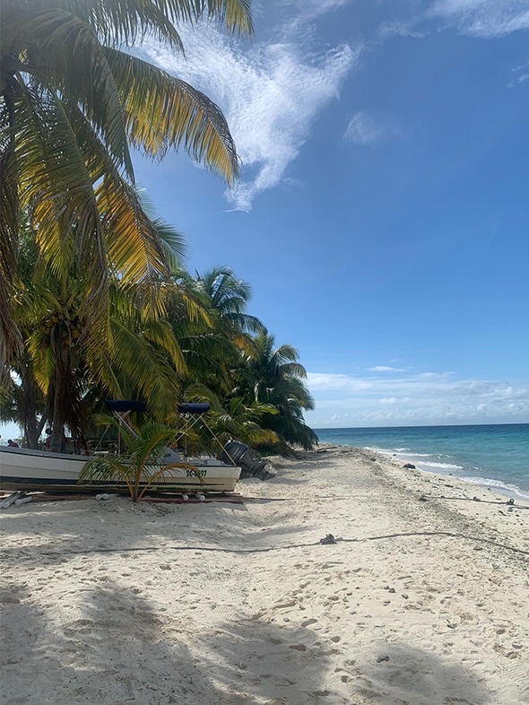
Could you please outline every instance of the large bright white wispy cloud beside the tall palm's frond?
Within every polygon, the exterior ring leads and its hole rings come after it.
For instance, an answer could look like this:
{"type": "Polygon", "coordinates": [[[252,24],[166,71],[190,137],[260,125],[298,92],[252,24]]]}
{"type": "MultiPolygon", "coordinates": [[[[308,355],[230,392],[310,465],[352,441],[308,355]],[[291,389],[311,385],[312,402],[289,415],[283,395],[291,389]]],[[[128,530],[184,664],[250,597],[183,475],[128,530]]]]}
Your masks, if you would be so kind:
{"type": "Polygon", "coordinates": [[[281,42],[243,45],[211,23],[184,26],[186,58],[152,41],[143,45],[153,62],[204,91],[228,118],[244,167],[242,182],[226,193],[234,210],[251,210],[256,196],[282,183],[318,112],[339,97],[360,58],[360,47],[349,44],[318,53],[285,28],[281,42]]]}

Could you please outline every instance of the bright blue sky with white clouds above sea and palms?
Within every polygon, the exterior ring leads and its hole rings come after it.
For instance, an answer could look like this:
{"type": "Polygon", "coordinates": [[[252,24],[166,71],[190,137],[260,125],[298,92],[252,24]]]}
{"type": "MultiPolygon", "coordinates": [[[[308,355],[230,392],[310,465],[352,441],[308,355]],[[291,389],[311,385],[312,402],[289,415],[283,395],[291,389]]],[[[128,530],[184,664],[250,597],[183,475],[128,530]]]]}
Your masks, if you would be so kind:
{"type": "MultiPolygon", "coordinates": [[[[529,3],[271,0],[253,42],[141,53],[229,118],[228,192],[185,154],[136,178],[299,348],[315,427],[529,421],[529,3]]],[[[3,433],[4,435],[4,433],[3,433]]]]}

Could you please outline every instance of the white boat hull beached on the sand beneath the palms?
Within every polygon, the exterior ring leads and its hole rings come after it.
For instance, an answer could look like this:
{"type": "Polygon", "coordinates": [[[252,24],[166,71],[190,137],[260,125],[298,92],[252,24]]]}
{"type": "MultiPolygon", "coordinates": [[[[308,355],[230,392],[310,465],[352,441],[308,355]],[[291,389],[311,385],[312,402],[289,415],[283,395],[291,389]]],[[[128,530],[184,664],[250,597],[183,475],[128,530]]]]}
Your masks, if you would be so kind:
{"type": "MultiPolygon", "coordinates": [[[[126,491],[118,481],[79,483],[86,456],[51,453],[27,448],[0,447],[0,489],[3,490],[98,490],[126,491]]],[[[212,457],[180,458],[167,449],[166,463],[185,463],[190,467],[174,468],[150,485],[152,491],[165,492],[233,492],[240,467],[230,466],[212,457]]],[[[143,485],[144,483],[142,483],[143,485]]]]}

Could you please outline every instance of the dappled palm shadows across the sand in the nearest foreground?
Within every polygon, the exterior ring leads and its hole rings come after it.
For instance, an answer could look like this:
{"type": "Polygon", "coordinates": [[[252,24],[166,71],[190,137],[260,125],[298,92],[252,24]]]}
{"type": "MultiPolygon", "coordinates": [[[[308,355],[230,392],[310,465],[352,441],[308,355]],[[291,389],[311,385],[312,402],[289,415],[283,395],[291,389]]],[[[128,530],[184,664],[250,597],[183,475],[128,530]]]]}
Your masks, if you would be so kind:
{"type": "Polygon", "coordinates": [[[11,616],[2,625],[4,705],[492,701],[464,666],[426,650],[384,641],[389,660],[377,663],[375,645],[344,647],[312,623],[220,614],[208,624],[188,610],[183,620],[175,582],[175,595],[163,603],[112,581],[77,588],[82,595],[72,614],[70,598],[63,606],[57,595],[35,609],[26,588],[3,593],[20,600],[7,605],[11,616]]]}

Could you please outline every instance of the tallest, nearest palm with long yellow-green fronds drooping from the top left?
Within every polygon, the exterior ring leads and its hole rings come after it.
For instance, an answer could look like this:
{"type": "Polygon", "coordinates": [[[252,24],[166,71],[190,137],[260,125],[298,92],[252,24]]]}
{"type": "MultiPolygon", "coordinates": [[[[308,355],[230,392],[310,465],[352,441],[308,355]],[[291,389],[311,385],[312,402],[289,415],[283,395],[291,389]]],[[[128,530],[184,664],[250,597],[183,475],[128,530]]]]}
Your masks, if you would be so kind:
{"type": "Polygon", "coordinates": [[[126,52],[145,34],[181,51],[180,22],[204,14],[252,32],[249,0],[1,0],[0,370],[22,350],[11,302],[18,221],[28,209],[39,251],[82,262],[90,318],[104,333],[108,278],[143,289],[160,312],[169,267],[134,191],[129,146],[152,159],[183,147],[233,182],[238,158],[221,110],[203,93],[126,52]],[[124,50],[125,49],[125,50],[124,50]]]}

